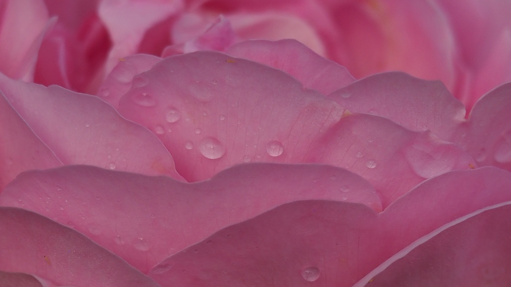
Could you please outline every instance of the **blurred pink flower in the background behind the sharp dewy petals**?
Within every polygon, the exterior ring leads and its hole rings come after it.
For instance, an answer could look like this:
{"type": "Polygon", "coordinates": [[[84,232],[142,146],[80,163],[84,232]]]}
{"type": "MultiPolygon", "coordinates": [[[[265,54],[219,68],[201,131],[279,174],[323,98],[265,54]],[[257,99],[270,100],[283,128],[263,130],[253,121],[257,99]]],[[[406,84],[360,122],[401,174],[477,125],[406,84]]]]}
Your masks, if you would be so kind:
{"type": "Polygon", "coordinates": [[[119,58],[225,52],[247,39],[296,39],[357,79],[399,70],[441,80],[468,111],[511,80],[511,6],[499,0],[5,3],[3,27],[19,29],[1,32],[10,56],[0,70],[80,92],[96,93],[119,58]]]}

